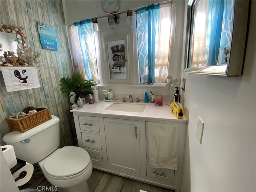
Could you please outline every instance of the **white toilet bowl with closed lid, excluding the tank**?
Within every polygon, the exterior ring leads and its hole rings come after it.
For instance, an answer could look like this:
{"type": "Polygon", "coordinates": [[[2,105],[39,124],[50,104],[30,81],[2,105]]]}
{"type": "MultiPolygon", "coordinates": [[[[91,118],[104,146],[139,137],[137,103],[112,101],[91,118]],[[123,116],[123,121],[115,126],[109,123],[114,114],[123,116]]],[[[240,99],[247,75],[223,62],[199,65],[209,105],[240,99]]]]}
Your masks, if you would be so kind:
{"type": "Polygon", "coordinates": [[[63,192],[89,191],[87,180],[92,174],[92,161],[86,150],[67,146],[57,149],[38,162],[45,178],[63,192]]]}

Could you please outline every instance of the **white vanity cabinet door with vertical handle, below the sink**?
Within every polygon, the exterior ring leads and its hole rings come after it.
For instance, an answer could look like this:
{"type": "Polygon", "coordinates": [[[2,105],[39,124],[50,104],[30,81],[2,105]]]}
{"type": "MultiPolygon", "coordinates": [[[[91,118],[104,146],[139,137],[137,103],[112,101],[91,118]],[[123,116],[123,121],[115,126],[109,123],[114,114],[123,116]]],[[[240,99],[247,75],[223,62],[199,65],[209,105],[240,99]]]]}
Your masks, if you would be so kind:
{"type": "Polygon", "coordinates": [[[139,122],[104,118],[108,166],[140,174],[139,122]]]}

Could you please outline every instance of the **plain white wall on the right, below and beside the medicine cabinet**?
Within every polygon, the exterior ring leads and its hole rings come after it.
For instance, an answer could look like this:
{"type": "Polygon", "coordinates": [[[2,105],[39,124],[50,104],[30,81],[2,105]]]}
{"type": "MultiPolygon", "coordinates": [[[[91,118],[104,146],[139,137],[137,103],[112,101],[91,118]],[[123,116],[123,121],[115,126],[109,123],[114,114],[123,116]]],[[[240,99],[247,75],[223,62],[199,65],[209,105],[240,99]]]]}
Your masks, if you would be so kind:
{"type": "Polygon", "coordinates": [[[188,118],[182,191],[256,191],[256,1],[241,77],[183,73],[188,118]],[[204,121],[202,144],[196,138],[204,121]]]}

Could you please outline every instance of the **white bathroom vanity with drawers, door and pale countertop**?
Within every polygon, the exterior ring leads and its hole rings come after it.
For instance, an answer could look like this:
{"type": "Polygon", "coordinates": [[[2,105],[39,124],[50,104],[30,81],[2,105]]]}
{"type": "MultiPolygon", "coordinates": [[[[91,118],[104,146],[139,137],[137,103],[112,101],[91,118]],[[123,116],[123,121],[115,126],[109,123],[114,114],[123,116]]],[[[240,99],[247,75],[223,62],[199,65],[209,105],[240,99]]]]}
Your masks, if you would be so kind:
{"type": "Polygon", "coordinates": [[[86,104],[82,109],[72,110],[78,145],[90,154],[96,169],[180,191],[186,117],[176,119],[169,106],[148,105],[148,112],[129,115],[104,110],[109,106],[108,102],[86,104]],[[148,122],[178,125],[177,170],[150,166],[147,156],[148,122]]]}

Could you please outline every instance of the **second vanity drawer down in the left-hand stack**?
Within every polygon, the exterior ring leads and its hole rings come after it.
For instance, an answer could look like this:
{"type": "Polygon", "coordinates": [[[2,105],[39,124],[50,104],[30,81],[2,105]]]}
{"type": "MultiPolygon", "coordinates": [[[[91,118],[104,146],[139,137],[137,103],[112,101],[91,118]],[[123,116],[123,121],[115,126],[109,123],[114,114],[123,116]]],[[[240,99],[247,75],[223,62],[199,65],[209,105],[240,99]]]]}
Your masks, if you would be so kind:
{"type": "Polygon", "coordinates": [[[84,147],[101,150],[100,135],[82,133],[82,144],[84,147]]]}

